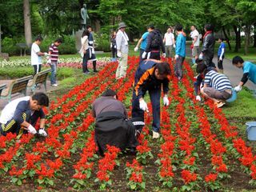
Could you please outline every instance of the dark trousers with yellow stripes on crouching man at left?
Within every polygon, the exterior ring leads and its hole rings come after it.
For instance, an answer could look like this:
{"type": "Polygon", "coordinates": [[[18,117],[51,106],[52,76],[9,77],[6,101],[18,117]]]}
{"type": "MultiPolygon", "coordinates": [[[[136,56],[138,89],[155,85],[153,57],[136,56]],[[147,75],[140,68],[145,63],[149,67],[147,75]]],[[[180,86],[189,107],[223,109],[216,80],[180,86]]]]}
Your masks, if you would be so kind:
{"type": "MultiPolygon", "coordinates": [[[[32,126],[35,126],[36,122],[39,118],[38,110],[34,111],[34,114],[31,115],[31,110],[26,110],[22,113],[22,118],[24,121],[29,122],[32,126]]],[[[14,118],[10,119],[10,121],[6,122],[6,124],[0,124],[1,134],[6,136],[8,133],[13,133],[17,135],[26,134],[27,131],[22,129],[21,124],[15,121],[14,118]]]]}

